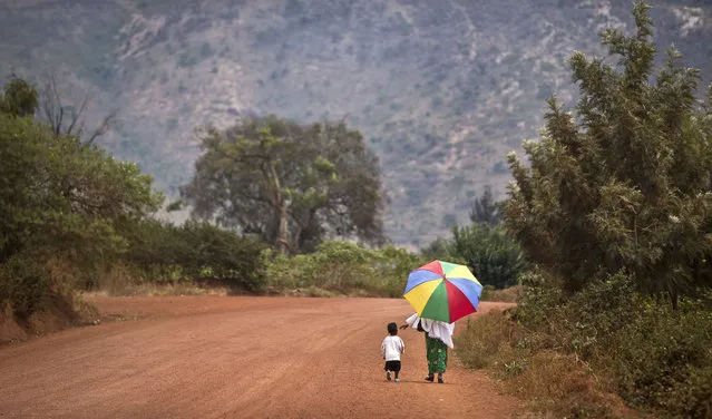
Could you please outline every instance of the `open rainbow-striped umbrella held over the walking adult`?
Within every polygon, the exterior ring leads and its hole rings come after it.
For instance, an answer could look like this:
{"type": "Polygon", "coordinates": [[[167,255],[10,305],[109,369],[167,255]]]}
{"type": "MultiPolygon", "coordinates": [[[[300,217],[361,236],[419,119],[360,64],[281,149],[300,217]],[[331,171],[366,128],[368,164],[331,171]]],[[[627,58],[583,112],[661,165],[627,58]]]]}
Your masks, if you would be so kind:
{"type": "Polygon", "coordinates": [[[477,311],[481,292],[467,266],[432,261],[408,275],[403,296],[419,316],[453,323],[477,311]]]}

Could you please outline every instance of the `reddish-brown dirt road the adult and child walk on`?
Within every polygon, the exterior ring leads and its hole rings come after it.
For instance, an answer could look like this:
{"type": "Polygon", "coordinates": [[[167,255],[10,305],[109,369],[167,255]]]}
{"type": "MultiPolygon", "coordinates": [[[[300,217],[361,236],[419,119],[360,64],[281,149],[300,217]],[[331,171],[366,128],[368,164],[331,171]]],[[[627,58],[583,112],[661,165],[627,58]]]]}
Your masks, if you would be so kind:
{"type": "MultiPolygon", "coordinates": [[[[425,339],[412,329],[399,331],[401,382],[387,382],[380,344],[389,322],[412,313],[403,300],[95,302],[142,319],[0,348],[0,418],[497,419],[519,406],[452,357],[443,384],[423,381],[425,339]]],[[[485,302],[480,312],[508,305],[485,302]]]]}

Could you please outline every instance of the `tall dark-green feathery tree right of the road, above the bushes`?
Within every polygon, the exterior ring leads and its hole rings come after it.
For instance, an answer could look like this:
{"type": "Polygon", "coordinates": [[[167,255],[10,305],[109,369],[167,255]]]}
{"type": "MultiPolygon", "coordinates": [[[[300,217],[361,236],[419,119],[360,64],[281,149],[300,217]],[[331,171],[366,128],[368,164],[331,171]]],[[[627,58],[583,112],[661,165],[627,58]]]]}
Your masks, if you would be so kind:
{"type": "Polygon", "coordinates": [[[651,80],[648,8],[635,3],[634,36],[602,35],[617,65],[572,56],[577,115],[549,99],[542,140],[524,143],[530,167],[508,156],[505,223],[568,291],[623,270],[675,305],[712,285],[712,88],[699,107],[699,71],[674,49],[651,80]]]}

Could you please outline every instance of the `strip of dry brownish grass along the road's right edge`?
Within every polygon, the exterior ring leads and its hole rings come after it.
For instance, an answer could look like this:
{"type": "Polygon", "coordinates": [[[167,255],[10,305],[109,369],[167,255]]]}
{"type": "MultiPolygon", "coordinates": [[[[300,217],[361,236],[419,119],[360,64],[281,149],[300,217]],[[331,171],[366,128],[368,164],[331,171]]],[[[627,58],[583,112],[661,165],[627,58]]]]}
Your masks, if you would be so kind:
{"type": "Polygon", "coordinates": [[[527,400],[520,418],[631,418],[635,412],[575,355],[534,351],[505,312],[468,322],[457,337],[458,359],[468,368],[488,369],[505,391],[527,400]]]}

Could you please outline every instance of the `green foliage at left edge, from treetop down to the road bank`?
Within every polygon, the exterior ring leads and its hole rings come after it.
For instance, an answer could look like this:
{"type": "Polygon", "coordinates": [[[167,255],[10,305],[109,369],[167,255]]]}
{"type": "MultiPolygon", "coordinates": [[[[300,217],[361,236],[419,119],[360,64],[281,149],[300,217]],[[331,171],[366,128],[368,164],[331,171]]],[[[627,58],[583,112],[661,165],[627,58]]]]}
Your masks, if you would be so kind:
{"type": "Polygon", "coordinates": [[[126,249],[117,225],[145,217],[163,196],[135,164],[36,121],[30,110],[37,91],[23,80],[6,87],[2,103],[0,298],[18,319],[27,319],[67,291],[45,272],[52,257],[85,266],[87,280],[106,257],[126,249]]]}

